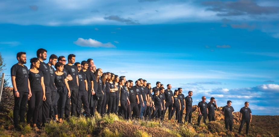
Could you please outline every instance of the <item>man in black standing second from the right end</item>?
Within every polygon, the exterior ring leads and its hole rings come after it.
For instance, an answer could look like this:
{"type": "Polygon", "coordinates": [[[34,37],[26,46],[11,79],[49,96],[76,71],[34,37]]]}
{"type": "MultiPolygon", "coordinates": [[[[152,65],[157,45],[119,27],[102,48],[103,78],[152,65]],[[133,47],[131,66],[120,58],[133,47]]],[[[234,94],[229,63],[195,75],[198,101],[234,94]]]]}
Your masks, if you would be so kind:
{"type": "Polygon", "coordinates": [[[227,101],[227,105],[222,108],[222,114],[225,116],[225,128],[229,131],[233,131],[233,107],[232,102],[227,101]]]}

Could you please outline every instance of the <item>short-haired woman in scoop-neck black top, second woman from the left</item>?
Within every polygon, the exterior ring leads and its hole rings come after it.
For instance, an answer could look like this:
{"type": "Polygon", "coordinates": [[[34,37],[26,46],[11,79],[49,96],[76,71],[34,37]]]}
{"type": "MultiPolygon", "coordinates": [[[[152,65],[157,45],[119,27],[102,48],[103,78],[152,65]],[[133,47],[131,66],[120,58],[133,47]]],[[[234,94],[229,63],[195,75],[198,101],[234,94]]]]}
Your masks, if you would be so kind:
{"type": "Polygon", "coordinates": [[[63,64],[61,62],[57,62],[54,68],[56,69],[54,84],[57,88],[57,93],[56,93],[55,102],[53,104],[53,109],[54,109],[56,120],[58,120],[59,123],[62,123],[66,99],[71,96],[71,92],[67,82],[67,75],[66,73],[63,72],[63,64]],[[57,103],[58,103],[58,108],[57,108],[57,103]]]}

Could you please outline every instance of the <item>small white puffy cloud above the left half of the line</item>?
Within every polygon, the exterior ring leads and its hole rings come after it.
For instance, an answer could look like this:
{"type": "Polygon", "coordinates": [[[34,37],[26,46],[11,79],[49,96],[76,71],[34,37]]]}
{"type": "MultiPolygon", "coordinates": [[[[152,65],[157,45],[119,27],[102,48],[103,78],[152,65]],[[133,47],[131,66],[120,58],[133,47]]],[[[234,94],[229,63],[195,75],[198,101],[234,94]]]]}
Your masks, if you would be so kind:
{"type": "Polygon", "coordinates": [[[95,39],[83,39],[83,38],[78,38],[77,41],[74,41],[74,43],[78,46],[82,46],[82,47],[107,47],[107,48],[115,48],[115,46],[113,44],[111,44],[110,42],[108,43],[102,43],[100,41],[97,41],[95,39]]]}

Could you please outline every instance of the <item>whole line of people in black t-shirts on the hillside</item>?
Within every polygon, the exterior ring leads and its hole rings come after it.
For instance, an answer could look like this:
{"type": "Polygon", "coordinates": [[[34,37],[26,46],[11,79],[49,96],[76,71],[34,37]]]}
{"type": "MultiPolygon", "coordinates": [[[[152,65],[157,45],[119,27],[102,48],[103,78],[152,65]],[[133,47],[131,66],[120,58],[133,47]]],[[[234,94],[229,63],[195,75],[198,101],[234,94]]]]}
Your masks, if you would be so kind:
{"type": "MultiPolygon", "coordinates": [[[[183,111],[186,111],[184,122],[191,123],[192,95],[182,94],[182,88],[172,92],[172,85],[167,84],[166,89],[160,82],[156,87],[139,78],[136,81],[126,80],[125,76],[118,76],[111,72],[97,69],[93,59],[82,62],[75,61],[75,55],[65,56],[50,55],[48,62],[47,51],[37,50],[37,57],[30,59],[30,69],[27,69],[26,53],[18,52],[18,63],[11,67],[11,81],[14,92],[14,126],[18,128],[18,117],[25,122],[25,111],[28,103],[27,124],[35,130],[44,126],[49,120],[63,122],[69,116],[86,117],[94,116],[97,111],[101,116],[115,113],[125,119],[165,119],[168,109],[168,120],[175,114],[175,120],[182,123],[183,111]],[[68,61],[68,63],[66,63],[68,61]],[[53,68],[54,66],[54,68],[53,68]],[[134,85],[135,83],[135,85],[134,85]],[[83,108],[83,112],[82,112],[83,108]]],[[[240,110],[242,123],[246,123],[246,133],[251,122],[251,110],[248,102],[240,110]],[[248,125],[248,126],[247,126],[248,125]]],[[[215,120],[214,97],[206,102],[206,97],[198,103],[199,116],[197,123],[203,117],[204,122],[215,120]]],[[[223,107],[226,129],[232,131],[234,111],[231,101],[223,107]]]]}

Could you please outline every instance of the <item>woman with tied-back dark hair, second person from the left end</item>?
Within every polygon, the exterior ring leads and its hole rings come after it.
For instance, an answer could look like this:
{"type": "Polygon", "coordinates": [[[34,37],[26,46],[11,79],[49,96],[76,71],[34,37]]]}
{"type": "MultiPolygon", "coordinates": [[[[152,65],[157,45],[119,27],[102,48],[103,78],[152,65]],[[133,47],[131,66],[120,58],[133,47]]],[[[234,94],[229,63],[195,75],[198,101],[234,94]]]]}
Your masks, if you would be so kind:
{"type": "Polygon", "coordinates": [[[29,69],[29,81],[30,89],[33,96],[29,98],[28,101],[28,111],[27,111],[27,123],[31,123],[33,117],[33,127],[35,131],[38,131],[37,128],[37,119],[39,113],[39,107],[43,104],[43,101],[46,100],[45,96],[45,85],[43,83],[43,72],[39,71],[40,60],[38,58],[32,58],[30,60],[31,66],[29,69]]]}

